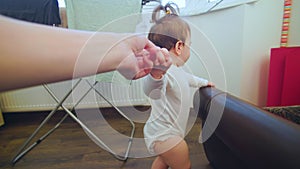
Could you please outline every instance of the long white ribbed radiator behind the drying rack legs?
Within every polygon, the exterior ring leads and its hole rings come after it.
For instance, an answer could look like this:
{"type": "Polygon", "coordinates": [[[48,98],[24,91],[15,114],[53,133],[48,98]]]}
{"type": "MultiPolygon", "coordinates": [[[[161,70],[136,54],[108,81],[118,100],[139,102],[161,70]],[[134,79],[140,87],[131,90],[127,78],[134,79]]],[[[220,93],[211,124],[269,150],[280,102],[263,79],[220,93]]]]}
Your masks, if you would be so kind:
{"type": "MultiPolygon", "coordinates": [[[[48,86],[60,100],[71,89],[72,81],[49,84],[48,86]]],[[[126,85],[98,83],[95,87],[116,106],[149,105],[148,99],[142,90],[141,80],[135,80],[131,84],[126,85]]],[[[64,105],[71,108],[88,88],[89,85],[86,81],[81,81],[73,94],[66,99],[64,105]]],[[[55,105],[55,100],[43,86],[3,92],[0,94],[0,107],[3,112],[48,111],[53,109],[55,105]]],[[[94,92],[94,90],[91,90],[80,104],[76,106],[76,108],[95,107],[111,107],[111,105],[94,92]]]]}

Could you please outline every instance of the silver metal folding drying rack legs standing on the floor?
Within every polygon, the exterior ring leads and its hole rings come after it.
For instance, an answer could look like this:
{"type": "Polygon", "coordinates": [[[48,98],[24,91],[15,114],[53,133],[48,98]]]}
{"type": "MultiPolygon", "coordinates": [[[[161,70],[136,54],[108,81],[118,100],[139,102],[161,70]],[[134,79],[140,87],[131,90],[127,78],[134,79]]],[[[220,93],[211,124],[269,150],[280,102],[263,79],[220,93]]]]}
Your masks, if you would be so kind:
{"type": "Polygon", "coordinates": [[[95,139],[98,143],[100,143],[104,148],[106,148],[112,155],[115,156],[118,160],[126,161],[129,155],[129,151],[132,145],[134,133],[135,133],[135,124],[134,122],[128,118],[117,106],[115,106],[112,102],[110,102],[104,95],[102,95],[96,88],[96,84],[98,81],[95,81],[94,84],[91,84],[88,80],[86,82],[90,85],[90,88],[82,95],[82,97],[79,98],[79,100],[74,104],[74,106],[69,110],[66,108],[63,103],[64,101],[72,94],[74,89],[79,85],[79,83],[83,79],[78,79],[77,82],[72,86],[72,88],[66,93],[66,95],[59,100],[56,95],[53,93],[53,91],[49,88],[47,84],[44,84],[43,87],[46,89],[46,91],[51,95],[51,97],[57,102],[55,108],[48,114],[48,116],[42,121],[42,123],[36,128],[36,130],[31,134],[31,136],[24,142],[24,144],[20,147],[19,151],[17,152],[16,156],[12,159],[11,163],[14,165],[17,163],[24,155],[26,155],[30,150],[32,150],[34,147],[36,147],[38,144],[40,144],[43,140],[45,140],[51,133],[53,133],[60,125],[61,123],[70,116],[73,120],[75,120],[93,139],[95,139]],[[80,121],[73,113],[72,111],[75,109],[75,107],[82,101],[82,99],[92,90],[94,89],[99,96],[101,96],[107,103],[109,103],[113,108],[117,110],[117,112],[122,115],[125,119],[127,119],[130,124],[132,125],[132,130],[130,134],[130,138],[128,139],[128,146],[126,148],[126,152],[124,156],[117,155],[113,153],[113,150],[107,146],[101,139],[99,139],[82,121],[80,121]],[[29,143],[33,140],[33,138],[38,134],[40,129],[51,119],[51,117],[57,112],[59,108],[62,108],[66,114],[61,118],[61,120],[50,130],[48,130],[43,136],[38,138],[33,144],[30,146],[29,143]],[[26,148],[28,146],[28,148],[26,148]]]}

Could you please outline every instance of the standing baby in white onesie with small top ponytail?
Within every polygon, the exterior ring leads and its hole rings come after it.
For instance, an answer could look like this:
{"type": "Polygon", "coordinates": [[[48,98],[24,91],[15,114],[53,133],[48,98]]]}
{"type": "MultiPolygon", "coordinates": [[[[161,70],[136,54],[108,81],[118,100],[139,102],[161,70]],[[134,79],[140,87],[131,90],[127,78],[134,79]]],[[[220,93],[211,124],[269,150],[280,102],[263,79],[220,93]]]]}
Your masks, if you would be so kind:
{"type": "Polygon", "coordinates": [[[144,92],[151,98],[151,114],[144,127],[149,152],[157,155],[152,169],[191,168],[187,143],[184,140],[192,96],[191,87],[213,86],[208,80],[183,70],[190,57],[191,30],[171,4],[158,6],[155,23],[148,39],[170,53],[172,65],[167,70],[155,67],[144,80],[144,92]],[[165,16],[159,18],[160,11],[165,16]]]}

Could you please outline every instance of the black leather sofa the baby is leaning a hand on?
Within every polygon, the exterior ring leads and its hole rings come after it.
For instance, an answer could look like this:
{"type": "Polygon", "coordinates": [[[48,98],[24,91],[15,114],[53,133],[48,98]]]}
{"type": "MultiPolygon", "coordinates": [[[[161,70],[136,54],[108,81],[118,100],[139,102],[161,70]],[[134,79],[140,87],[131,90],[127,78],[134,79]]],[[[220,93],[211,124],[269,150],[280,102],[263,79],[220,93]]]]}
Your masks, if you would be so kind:
{"type": "Polygon", "coordinates": [[[300,169],[300,125],[210,87],[195,93],[194,108],[202,130],[221,117],[202,143],[213,168],[300,169]]]}

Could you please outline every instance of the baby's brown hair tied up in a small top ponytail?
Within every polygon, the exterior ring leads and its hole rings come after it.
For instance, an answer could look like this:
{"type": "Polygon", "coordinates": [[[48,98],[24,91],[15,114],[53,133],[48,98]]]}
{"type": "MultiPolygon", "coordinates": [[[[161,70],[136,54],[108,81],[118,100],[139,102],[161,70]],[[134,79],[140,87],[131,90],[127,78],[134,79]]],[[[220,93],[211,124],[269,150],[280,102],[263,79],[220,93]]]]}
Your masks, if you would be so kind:
{"type": "Polygon", "coordinates": [[[167,3],[165,6],[157,6],[152,13],[152,22],[154,25],[151,27],[148,34],[148,39],[155,45],[166,48],[168,50],[175,47],[175,44],[181,40],[186,41],[190,36],[189,25],[178,16],[178,7],[176,9],[174,3],[167,3]],[[163,11],[165,15],[160,18],[160,12],[163,11]]]}

